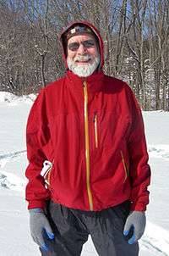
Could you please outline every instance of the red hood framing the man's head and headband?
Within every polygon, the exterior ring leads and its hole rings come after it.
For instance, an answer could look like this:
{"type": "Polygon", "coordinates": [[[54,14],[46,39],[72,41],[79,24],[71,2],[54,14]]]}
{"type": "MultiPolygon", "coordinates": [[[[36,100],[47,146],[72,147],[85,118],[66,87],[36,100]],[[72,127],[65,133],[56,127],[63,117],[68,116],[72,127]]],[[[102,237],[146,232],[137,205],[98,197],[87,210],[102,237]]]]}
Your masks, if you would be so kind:
{"type": "MultiPolygon", "coordinates": [[[[88,22],[87,20],[83,20],[83,21],[74,21],[72,23],[70,23],[66,28],[63,29],[61,36],[60,36],[60,41],[63,47],[63,34],[65,33],[65,31],[68,31],[68,29],[75,24],[84,24],[84,25],[88,25],[90,27],[90,29],[92,31],[94,31],[95,35],[98,37],[98,41],[99,41],[99,46],[100,46],[100,51],[101,51],[101,69],[103,68],[104,65],[104,50],[103,50],[103,40],[101,38],[101,34],[100,32],[95,28],[94,25],[90,24],[90,22],[88,22]]],[[[67,64],[67,59],[64,53],[64,47],[63,47],[63,59],[64,59],[64,63],[66,68],[68,69],[68,64],[67,64]]]]}

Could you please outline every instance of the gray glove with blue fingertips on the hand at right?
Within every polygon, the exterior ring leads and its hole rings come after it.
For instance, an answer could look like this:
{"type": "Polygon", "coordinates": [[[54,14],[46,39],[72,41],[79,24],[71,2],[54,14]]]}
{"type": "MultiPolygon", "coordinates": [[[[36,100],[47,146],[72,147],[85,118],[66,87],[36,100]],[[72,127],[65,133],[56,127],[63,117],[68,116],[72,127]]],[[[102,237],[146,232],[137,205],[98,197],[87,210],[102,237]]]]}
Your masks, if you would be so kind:
{"type": "Polygon", "coordinates": [[[123,234],[128,236],[128,233],[133,229],[133,236],[128,240],[129,244],[137,242],[142,237],[145,229],[145,214],[144,212],[131,211],[124,225],[123,234]]]}

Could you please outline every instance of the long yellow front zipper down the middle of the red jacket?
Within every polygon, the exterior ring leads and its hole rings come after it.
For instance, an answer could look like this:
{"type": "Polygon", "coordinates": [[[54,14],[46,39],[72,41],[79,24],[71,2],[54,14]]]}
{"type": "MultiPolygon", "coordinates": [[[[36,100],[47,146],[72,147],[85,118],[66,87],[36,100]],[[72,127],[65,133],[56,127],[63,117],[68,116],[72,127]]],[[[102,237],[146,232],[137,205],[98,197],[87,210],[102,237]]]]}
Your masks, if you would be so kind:
{"type": "Polygon", "coordinates": [[[84,81],[85,96],[85,160],[86,160],[86,186],[90,203],[90,210],[93,211],[93,199],[90,190],[90,141],[89,141],[89,121],[88,121],[88,93],[87,83],[84,81]]]}

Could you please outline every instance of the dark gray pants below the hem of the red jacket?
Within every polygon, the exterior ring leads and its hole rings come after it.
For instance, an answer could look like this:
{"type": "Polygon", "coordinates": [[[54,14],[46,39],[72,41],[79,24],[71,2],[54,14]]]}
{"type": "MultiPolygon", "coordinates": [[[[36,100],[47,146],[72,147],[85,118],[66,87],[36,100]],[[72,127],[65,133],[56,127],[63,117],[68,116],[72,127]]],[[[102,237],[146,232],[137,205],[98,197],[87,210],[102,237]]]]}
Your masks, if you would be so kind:
{"type": "Polygon", "coordinates": [[[47,252],[41,250],[41,255],[79,256],[90,235],[100,256],[138,256],[138,242],[130,245],[123,236],[128,213],[128,202],[101,212],[86,212],[68,209],[51,201],[47,218],[55,239],[51,241],[46,238],[50,249],[47,252]]]}

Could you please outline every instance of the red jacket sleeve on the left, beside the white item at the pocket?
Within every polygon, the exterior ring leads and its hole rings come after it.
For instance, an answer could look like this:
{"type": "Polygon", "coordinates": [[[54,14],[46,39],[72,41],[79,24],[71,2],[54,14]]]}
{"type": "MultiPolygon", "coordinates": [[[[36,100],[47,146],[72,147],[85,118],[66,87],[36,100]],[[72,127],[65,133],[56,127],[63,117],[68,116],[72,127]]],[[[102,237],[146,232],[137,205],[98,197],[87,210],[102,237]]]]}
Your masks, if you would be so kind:
{"type": "Polygon", "coordinates": [[[50,131],[46,117],[46,99],[44,90],[35,100],[27,121],[26,146],[29,165],[25,175],[28,178],[25,196],[28,201],[28,209],[44,208],[46,200],[50,198],[50,192],[45,187],[41,176],[43,162],[46,160],[47,143],[50,141],[50,131]]]}

